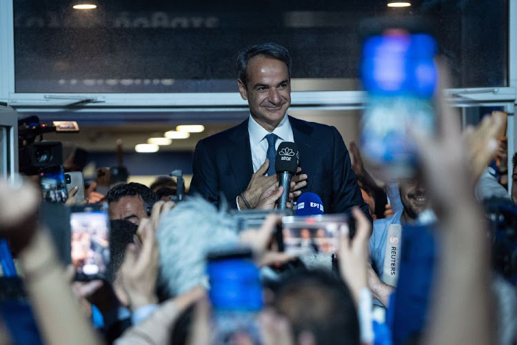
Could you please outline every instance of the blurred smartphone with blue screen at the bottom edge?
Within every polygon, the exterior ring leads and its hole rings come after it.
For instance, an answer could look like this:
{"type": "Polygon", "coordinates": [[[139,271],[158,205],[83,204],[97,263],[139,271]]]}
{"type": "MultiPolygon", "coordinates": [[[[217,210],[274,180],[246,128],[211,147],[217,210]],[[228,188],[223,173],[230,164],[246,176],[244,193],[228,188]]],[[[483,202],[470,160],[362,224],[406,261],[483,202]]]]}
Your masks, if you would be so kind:
{"type": "Polygon", "coordinates": [[[263,308],[262,286],[251,251],[209,254],[207,260],[212,344],[262,344],[256,319],[263,308]]]}

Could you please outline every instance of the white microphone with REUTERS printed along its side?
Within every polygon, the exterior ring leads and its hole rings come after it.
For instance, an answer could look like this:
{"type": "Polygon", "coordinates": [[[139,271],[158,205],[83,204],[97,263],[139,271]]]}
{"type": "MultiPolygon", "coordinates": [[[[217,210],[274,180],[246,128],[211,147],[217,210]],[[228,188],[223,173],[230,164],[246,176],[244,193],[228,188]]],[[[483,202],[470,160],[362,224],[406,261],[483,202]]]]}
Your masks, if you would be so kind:
{"type": "Polygon", "coordinates": [[[389,224],[384,255],[383,282],[391,286],[397,286],[398,270],[401,265],[401,236],[401,224],[389,224]]]}

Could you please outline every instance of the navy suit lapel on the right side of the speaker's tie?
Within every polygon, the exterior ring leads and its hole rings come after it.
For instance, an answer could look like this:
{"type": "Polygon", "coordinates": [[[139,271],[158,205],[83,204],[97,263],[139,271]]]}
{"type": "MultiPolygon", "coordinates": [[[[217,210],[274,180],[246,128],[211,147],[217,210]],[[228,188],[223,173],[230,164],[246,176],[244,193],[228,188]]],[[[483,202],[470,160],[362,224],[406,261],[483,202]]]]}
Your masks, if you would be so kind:
{"type": "Polygon", "coordinates": [[[314,176],[314,170],[316,169],[314,157],[318,157],[319,141],[314,139],[314,135],[311,135],[314,129],[308,126],[305,121],[294,117],[289,117],[289,121],[294,142],[298,146],[298,152],[300,152],[299,166],[301,166],[302,172],[309,177],[307,179],[307,190],[310,190],[312,187],[311,177],[314,176]]]}

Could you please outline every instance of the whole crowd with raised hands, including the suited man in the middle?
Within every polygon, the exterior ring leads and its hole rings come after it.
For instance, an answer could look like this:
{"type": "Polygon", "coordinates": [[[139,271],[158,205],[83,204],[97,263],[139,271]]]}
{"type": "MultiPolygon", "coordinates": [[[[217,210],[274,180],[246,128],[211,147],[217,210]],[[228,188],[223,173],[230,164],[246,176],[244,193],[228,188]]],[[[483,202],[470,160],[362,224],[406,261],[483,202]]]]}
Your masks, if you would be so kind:
{"type": "MultiPolygon", "coordinates": [[[[503,114],[462,133],[438,97],[436,135],[408,128],[418,174],[381,185],[355,144],[350,159],[336,128],[287,115],[285,48],[247,48],[237,68],[250,117],[199,141],[184,201],[173,201],[168,177],[150,187],[116,184],[105,195],[88,189],[83,204],[108,204],[105,279],[74,279],[77,268],[60,262],[52,229],[39,222],[41,190],[19,176],[0,179],[0,237],[17,260],[33,320],[2,306],[0,344],[517,344],[516,241],[489,226],[494,217],[483,208],[497,198],[501,210],[513,210],[517,201],[517,181],[510,197],[498,179],[503,114]],[[283,141],[298,146],[287,210],[312,192],[321,213],[354,219],[332,233],[334,253],[278,250],[285,187],[274,161],[283,141]],[[262,225],[239,229],[235,210],[256,209],[270,213],[262,225]],[[500,236],[514,256],[494,264],[500,236]],[[233,266],[214,264],[225,260],[233,266]],[[214,279],[216,268],[227,285],[214,279]],[[221,309],[221,298],[231,306],[221,309]]],[[[440,66],[440,90],[446,79],[440,66]]],[[[328,236],[316,229],[315,238],[328,236]]],[[[300,233],[314,242],[308,229],[300,233]]]]}

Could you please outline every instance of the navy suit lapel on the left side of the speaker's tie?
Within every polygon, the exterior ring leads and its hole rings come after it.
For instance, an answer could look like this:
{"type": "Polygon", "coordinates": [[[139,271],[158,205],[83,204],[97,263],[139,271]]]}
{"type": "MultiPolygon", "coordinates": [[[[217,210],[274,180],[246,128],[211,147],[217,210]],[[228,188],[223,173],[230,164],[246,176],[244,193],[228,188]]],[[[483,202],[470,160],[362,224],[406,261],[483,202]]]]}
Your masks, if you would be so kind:
{"type": "MultiPolygon", "coordinates": [[[[247,121],[244,121],[230,134],[228,159],[237,186],[242,192],[247,188],[253,175],[252,150],[250,148],[250,134],[247,132],[247,121]]],[[[240,193],[240,192],[239,192],[240,193]]]]}

